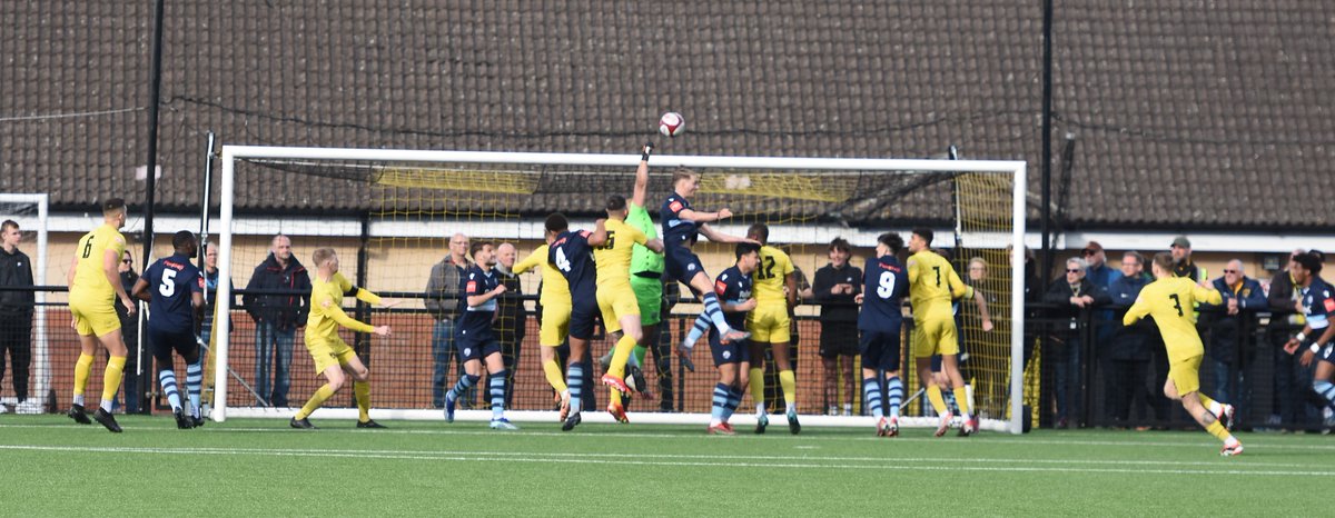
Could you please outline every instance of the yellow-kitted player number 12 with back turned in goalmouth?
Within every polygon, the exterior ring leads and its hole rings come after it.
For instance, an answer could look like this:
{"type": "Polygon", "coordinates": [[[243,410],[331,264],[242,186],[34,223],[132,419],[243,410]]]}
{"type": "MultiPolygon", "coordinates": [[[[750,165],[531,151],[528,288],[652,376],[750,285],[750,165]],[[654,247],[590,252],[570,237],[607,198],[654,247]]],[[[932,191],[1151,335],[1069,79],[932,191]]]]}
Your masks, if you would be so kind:
{"type": "Polygon", "coordinates": [[[793,260],[782,250],[769,243],[769,226],[756,223],[746,230],[746,238],[761,244],[760,264],[752,272],[756,290],[756,308],[746,314],[746,331],[750,336],[750,379],[748,384],[752,401],[756,402],[756,433],[764,434],[769,426],[765,413],[765,346],[770,347],[774,370],[778,371],[778,384],[784,390],[788,430],[797,434],[802,425],[797,422],[797,376],[789,356],[789,342],[793,336],[789,311],[797,306],[797,276],[793,260]]]}

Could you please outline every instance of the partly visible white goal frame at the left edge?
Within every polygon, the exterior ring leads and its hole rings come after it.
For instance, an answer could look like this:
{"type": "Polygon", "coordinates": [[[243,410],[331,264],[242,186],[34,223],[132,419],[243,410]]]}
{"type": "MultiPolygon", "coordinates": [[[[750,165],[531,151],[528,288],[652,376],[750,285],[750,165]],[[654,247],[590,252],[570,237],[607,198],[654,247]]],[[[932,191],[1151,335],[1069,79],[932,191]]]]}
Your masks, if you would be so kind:
{"type": "MultiPolygon", "coordinates": [[[[47,278],[47,203],[45,194],[0,194],[0,216],[13,218],[19,228],[37,234],[37,250],[32,264],[32,280],[41,286],[47,278]]],[[[47,336],[47,292],[33,294],[37,307],[32,322],[32,391],[28,398],[45,401],[51,391],[51,347],[47,336]]]]}

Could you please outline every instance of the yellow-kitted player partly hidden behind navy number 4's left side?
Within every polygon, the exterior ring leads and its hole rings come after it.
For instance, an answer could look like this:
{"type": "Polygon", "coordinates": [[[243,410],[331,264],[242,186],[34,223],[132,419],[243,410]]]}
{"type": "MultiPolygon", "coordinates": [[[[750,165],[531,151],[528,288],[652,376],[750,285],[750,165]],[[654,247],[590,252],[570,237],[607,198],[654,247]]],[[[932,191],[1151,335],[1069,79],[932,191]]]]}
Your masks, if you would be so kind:
{"type": "Polygon", "coordinates": [[[539,328],[538,344],[542,346],[542,372],[547,376],[547,383],[561,395],[561,421],[566,421],[570,411],[570,390],[566,387],[565,372],[557,364],[557,347],[566,340],[570,332],[570,284],[561,270],[547,262],[547,244],[529,254],[527,258],[514,264],[515,275],[527,272],[535,267],[542,268],[542,294],[538,304],[542,306],[542,326],[539,328]]]}

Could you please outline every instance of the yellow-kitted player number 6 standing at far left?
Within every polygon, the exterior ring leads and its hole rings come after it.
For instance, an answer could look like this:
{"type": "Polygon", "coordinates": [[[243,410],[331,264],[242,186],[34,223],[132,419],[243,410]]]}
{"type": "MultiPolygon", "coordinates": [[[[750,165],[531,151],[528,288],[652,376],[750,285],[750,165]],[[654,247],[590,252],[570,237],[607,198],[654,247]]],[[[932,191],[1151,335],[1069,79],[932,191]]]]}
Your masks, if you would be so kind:
{"type": "Polygon", "coordinates": [[[125,371],[125,342],[120,336],[120,318],[116,316],[115,300],[125,304],[134,315],[135,302],[120,284],[120,256],[125,254],[125,236],[120,227],[125,226],[125,200],[112,198],[101,204],[101,226],[79,238],[79,247],[69,262],[65,283],[69,286],[69,312],[79,334],[79,360],[75,363],[73,405],[65,413],[80,425],[92,423],[84,413],[84,388],[92,375],[92,359],[97,343],[107,348],[107,370],[101,379],[101,405],[92,414],[101,426],[120,433],[120,425],[111,415],[111,399],[116,397],[120,378],[125,371]]]}

